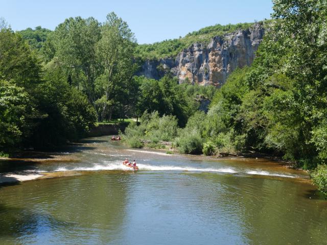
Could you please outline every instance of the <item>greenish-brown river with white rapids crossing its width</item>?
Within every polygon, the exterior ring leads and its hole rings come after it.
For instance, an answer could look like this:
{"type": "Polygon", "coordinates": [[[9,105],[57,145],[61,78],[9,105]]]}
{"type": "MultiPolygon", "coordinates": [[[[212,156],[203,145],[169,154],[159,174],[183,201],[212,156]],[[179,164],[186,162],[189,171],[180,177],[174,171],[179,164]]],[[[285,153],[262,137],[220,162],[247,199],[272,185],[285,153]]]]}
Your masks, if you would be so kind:
{"type": "Polygon", "coordinates": [[[59,160],[3,162],[3,173],[60,178],[0,187],[0,244],[327,244],[327,201],[303,171],[108,139],[59,160]]]}

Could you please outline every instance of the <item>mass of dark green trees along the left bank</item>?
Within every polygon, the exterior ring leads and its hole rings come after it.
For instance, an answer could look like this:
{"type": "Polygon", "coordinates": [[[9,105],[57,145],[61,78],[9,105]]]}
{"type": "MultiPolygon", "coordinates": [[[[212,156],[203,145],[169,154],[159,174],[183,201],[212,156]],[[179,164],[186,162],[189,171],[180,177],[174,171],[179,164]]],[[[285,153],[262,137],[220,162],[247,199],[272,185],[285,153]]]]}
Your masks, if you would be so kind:
{"type": "Polygon", "coordinates": [[[94,108],[67,83],[59,62],[42,66],[36,51],[11,29],[0,32],[0,54],[0,152],[62,144],[94,125],[94,108]]]}

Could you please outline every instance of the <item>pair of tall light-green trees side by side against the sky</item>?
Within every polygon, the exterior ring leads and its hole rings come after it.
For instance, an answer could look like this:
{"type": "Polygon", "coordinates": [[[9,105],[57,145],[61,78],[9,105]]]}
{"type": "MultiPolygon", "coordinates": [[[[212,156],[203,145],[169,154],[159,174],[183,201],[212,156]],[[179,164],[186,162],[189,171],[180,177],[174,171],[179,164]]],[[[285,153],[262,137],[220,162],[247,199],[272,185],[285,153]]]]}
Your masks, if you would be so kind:
{"type": "Polygon", "coordinates": [[[41,53],[60,63],[66,81],[83,91],[98,119],[125,117],[133,101],[136,46],[128,24],[115,13],[104,23],[89,17],[68,18],[49,35],[41,53]]]}

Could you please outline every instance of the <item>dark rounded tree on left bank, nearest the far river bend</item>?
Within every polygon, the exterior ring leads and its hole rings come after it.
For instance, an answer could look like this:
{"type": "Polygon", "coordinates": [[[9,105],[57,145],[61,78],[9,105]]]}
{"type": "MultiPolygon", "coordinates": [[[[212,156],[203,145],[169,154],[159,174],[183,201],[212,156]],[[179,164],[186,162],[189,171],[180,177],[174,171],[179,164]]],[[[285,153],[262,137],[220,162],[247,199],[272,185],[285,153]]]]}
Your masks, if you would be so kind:
{"type": "Polygon", "coordinates": [[[46,82],[37,85],[34,90],[38,110],[43,116],[34,120],[36,127],[28,141],[39,148],[84,137],[97,119],[87,97],[67,83],[63,69],[56,59],[46,64],[46,82]]]}

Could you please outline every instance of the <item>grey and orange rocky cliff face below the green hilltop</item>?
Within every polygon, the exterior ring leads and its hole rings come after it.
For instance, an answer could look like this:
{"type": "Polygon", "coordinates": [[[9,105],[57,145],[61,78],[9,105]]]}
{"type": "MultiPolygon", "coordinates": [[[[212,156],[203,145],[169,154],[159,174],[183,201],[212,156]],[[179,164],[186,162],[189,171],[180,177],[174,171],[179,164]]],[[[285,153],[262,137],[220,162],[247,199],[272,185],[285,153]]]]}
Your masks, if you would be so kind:
{"type": "Polygon", "coordinates": [[[248,30],[216,36],[208,45],[194,43],[175,59],[148,60],[138,75],[159,79],[170,70],[180,83],[186,80],[219,87],[234,69],[252,64],[263,35],[262,25],[256,23],[248,30]]]}

